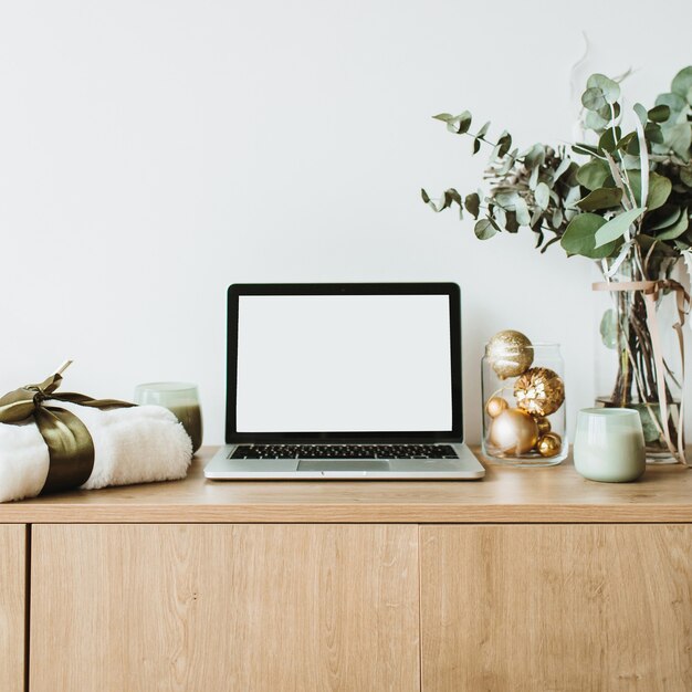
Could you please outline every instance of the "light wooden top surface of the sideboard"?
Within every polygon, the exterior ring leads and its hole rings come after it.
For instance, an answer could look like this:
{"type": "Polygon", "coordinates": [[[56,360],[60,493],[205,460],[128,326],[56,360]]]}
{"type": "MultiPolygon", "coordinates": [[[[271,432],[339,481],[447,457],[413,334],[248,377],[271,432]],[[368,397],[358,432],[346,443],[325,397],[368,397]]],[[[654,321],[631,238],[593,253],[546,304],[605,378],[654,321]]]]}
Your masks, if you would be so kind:
{"type": "Polygon", "coordinates": [[[692,522],[692,470],[648,466],[636,483],[583,479],[570,460],[482,481],[208,481],[203,448],[182,481],[0,504],[0,523],[692,522]]]}

